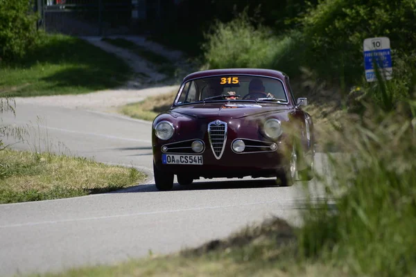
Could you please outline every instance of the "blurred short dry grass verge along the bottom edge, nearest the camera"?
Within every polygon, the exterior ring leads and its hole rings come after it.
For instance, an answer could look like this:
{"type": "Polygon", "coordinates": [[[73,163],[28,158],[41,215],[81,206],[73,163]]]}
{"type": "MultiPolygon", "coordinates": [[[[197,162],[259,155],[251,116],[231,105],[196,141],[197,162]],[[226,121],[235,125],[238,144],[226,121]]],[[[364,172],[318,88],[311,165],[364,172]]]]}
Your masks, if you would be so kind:
{"type": "Polygon", "coordinates": [[[225,240],[168,256],[45,276],[348,276],[324,262],[296,258],[297,231],[282,220],[248,226],[225,240]]]}

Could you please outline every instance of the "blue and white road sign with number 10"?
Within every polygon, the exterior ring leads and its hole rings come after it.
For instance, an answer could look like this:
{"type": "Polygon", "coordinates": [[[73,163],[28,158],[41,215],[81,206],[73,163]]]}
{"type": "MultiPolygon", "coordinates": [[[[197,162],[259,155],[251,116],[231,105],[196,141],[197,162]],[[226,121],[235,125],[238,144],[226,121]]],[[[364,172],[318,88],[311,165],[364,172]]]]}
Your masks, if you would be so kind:
{"type": "Polygon", "coordinates": [[[388,37],[371,37],[364,39],[364,66],[367,82],[376,81],[374,71],[376,65],[385,80],[392,78],[392,56],[390,51],[390,39],[388,37]]]}

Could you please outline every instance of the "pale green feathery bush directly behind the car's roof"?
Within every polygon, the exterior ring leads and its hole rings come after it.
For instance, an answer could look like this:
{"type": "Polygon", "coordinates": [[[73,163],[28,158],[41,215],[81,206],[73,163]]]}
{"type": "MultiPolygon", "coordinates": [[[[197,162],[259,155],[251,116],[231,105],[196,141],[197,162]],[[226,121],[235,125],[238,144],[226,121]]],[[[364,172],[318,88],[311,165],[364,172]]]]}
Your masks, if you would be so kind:
{"type": "Polygon", "coordinates": [[[226,24],[216,21],[205,37],[202,49],[208,69],[276,69],[295,76],[306,53],[302,33],[293,30],[276,36],[250,19],[246,11],[226,24]]]}

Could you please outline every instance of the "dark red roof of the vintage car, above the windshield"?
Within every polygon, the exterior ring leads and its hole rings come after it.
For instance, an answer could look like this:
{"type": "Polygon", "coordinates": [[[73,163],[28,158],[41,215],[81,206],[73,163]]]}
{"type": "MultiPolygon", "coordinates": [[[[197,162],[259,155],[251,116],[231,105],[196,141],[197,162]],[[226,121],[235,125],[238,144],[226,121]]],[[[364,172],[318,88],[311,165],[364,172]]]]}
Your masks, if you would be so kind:
{"type": "Polygon", "coordinates": [[[277,70],[271,70],[271,69],[210,69],[210,70],[204,70],[204,71],[197,71],[194,73],[191,73],[187,75],[187,77],[184,78],[183,82],[187,82],[188,80],[197,79],[197,78],[203,78],[203,77],[210,77],[210,76],[216,76],[216,75],[261,75],[265,77],[272,77],[272,78],[279,78],[281,80],[284,80],[286,77],[286,74],[277,71],[277,70]]]}

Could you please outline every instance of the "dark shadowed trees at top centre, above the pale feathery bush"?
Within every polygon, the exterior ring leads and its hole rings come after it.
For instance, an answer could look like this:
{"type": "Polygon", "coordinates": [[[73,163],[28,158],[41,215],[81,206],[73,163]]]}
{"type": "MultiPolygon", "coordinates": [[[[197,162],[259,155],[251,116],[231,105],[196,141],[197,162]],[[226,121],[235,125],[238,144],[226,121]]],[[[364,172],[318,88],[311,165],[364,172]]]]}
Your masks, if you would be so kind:
{"type": "Polygon", "coordinates": [[[273,33],[282,35],[286,30],[297,26],[297,17],[318,0],[182,0],[177,6],[172,1],[164,3],[166,10],[162,20],[150,39],[162,44],[178,48],[196,57],[201,54],[200,46],[205,37],[202,33],[209,32],[215,22],[227,24],[241,13],[254,19],[257,24],[270,27],[273,33]],[[191,25],[190,26],[190,22],[191,25]]]}

